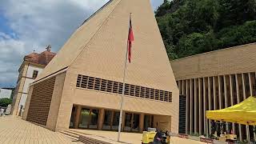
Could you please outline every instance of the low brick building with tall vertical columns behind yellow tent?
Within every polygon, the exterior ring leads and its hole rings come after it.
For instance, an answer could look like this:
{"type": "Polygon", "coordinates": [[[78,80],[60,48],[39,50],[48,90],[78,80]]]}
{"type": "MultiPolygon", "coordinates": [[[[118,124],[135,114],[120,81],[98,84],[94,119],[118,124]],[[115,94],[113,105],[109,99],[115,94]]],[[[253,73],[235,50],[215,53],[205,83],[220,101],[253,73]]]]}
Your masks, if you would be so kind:
{"type": "MultiPolygon", "coordinates": [[[[220,110],[256,95],[256,43],[171,62],[179,93],[186,95],[186,133],[206,134],[206,110],[220,110]]],[[[254,141],[253,126],[228,124],[240,140],[254,141]]],[[[227,127],[227,126],[226,126],[227,127]]]]}

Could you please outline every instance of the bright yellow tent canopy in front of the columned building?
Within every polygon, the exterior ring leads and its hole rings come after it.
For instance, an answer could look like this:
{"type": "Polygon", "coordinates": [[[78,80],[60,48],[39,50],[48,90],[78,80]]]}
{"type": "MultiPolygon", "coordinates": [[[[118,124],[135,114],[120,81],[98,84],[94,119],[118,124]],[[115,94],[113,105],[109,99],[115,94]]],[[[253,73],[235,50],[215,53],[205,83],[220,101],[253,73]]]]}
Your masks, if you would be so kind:
{"type": "Polygon", "coordinates": [[[256,96],[222,110],[207,110],[206,118],[256,126],[256,96]]]}

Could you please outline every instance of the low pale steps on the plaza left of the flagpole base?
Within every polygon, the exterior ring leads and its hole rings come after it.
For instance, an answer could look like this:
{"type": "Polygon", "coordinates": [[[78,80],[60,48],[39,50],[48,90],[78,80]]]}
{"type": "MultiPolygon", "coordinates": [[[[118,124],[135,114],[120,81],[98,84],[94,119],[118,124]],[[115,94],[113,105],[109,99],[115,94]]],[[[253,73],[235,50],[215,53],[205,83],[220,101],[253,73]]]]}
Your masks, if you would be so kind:
{"type": "Polygon", "coordinates": [[[107,142],[108,140],[99,140],[100,137],[92,136],[90,134],[82,134],[74,130],[60,130],[58,131],[61,134],[65,134],[67,137],[74,139],[74,141],[86,143],[86,144],[111,144],[115,142],[107,142]],[[93,137],[93,138],[92,138],[93,137]]]}

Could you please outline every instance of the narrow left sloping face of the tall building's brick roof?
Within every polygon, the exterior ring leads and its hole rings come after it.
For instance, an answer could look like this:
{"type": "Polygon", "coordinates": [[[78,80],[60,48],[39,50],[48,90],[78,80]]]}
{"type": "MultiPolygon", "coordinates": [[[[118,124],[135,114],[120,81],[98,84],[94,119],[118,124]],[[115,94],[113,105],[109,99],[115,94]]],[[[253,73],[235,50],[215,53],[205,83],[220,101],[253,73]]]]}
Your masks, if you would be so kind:
{"type": "Polygon", "coordinates": [[[120,1],[121,0],[110,0],[110,2],[107,2],[106,5],[102,6],[102,8],[90,18],[86,19],[86,21],[82,23],[82,26],[80,26],[78,30],[72,34],[65,45],[62,46],[62,49],[58,51],[58,54],[46,66],[45,70],[42,71],[42,74],[39,74],[36,81],[70,66],[81,51],[86,48],[90,39],[94,37],[100,27],[106,22],[106,19],[110,16],[111,12],[120,1]]]}

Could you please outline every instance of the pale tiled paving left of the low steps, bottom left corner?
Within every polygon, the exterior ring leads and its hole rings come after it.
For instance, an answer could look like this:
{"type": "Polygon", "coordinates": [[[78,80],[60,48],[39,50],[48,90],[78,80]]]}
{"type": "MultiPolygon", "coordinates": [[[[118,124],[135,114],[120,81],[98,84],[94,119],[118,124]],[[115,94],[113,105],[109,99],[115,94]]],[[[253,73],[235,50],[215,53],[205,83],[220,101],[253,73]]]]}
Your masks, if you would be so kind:
{"type": "Polygon", "coordinates": [[[0,117],[1,144],[78,144],[58,132],[47,130],[42,126],[26,122],[14,116],[0,117]]]}

